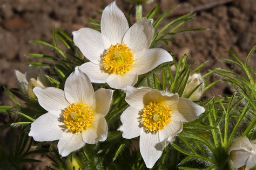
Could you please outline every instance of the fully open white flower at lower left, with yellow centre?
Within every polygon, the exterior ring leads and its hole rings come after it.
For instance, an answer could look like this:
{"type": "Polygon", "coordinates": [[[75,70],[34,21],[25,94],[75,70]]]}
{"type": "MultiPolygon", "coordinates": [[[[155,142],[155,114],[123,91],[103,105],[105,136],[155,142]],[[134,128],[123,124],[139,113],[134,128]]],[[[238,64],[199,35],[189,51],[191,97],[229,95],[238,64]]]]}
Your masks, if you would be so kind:
{"type": "Polygon", "coordinates": [[[89,78],[76,67],[66,79],[64,91],[35,87],[39,104],[48,113],[31,124],[29,136],[36,141],[59,140],[58,150],[63,157],[107,137],[104,116],[109,111],[112,90],[94,92],[89,78]]]}

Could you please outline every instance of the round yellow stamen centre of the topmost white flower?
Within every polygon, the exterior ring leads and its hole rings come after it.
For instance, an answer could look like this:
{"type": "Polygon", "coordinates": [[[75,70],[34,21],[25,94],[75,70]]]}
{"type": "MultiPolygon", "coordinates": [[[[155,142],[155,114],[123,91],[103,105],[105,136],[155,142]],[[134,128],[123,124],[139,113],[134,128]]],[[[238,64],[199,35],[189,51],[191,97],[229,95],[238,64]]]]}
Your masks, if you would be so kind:
{"type": "Polygon", "coordinates": [[[131,48],[126,44],[111,45],[104,53],[103,65],[108,73],[124,74],[132,69],[133,63],[131,48]]]}

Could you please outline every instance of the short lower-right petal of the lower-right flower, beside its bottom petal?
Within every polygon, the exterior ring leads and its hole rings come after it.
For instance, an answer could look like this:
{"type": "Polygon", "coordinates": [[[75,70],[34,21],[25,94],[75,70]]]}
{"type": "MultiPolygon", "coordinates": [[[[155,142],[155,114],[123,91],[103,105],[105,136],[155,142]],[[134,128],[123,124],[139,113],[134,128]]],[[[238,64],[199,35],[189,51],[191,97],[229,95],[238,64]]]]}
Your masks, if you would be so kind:
{"type": "Polygon", "coordinates": [[[181,121],[172,121],[163,130],[159,131],[159,138],[163,147],[171,143],[173,137],[180,133],[182,129],[183,123],[181,121]]]}

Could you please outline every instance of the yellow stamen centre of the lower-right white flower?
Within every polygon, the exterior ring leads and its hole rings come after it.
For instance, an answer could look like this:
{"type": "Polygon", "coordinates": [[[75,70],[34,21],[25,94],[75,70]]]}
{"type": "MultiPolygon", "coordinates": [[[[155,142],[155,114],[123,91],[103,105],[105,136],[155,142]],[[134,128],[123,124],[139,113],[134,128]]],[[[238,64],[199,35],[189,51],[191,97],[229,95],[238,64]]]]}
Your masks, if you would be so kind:
{"type": "Polygon", "coordinates": [[[164,103],[150,102],[140,113],[141,124],[150,132],[164,129],[164,126],[171,122],[171,112],[164,103]]]}

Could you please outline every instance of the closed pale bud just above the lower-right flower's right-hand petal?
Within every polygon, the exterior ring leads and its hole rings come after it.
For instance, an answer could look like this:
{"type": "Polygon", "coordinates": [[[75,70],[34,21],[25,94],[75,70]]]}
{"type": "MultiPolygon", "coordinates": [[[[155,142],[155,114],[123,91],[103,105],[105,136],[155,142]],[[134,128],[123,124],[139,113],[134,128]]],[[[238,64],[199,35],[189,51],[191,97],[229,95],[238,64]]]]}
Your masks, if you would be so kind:
{"type": "Polygon", "coordinates": [[[191,101],[199,101],[201,96],[204,93],[204,81],[201,74],[193,74],[188,77],[187,84],[185,86],[182,97],[188,97],[191,101]],[[201,84],[194,93],[190,97],[190,93],[201,84]]]}

